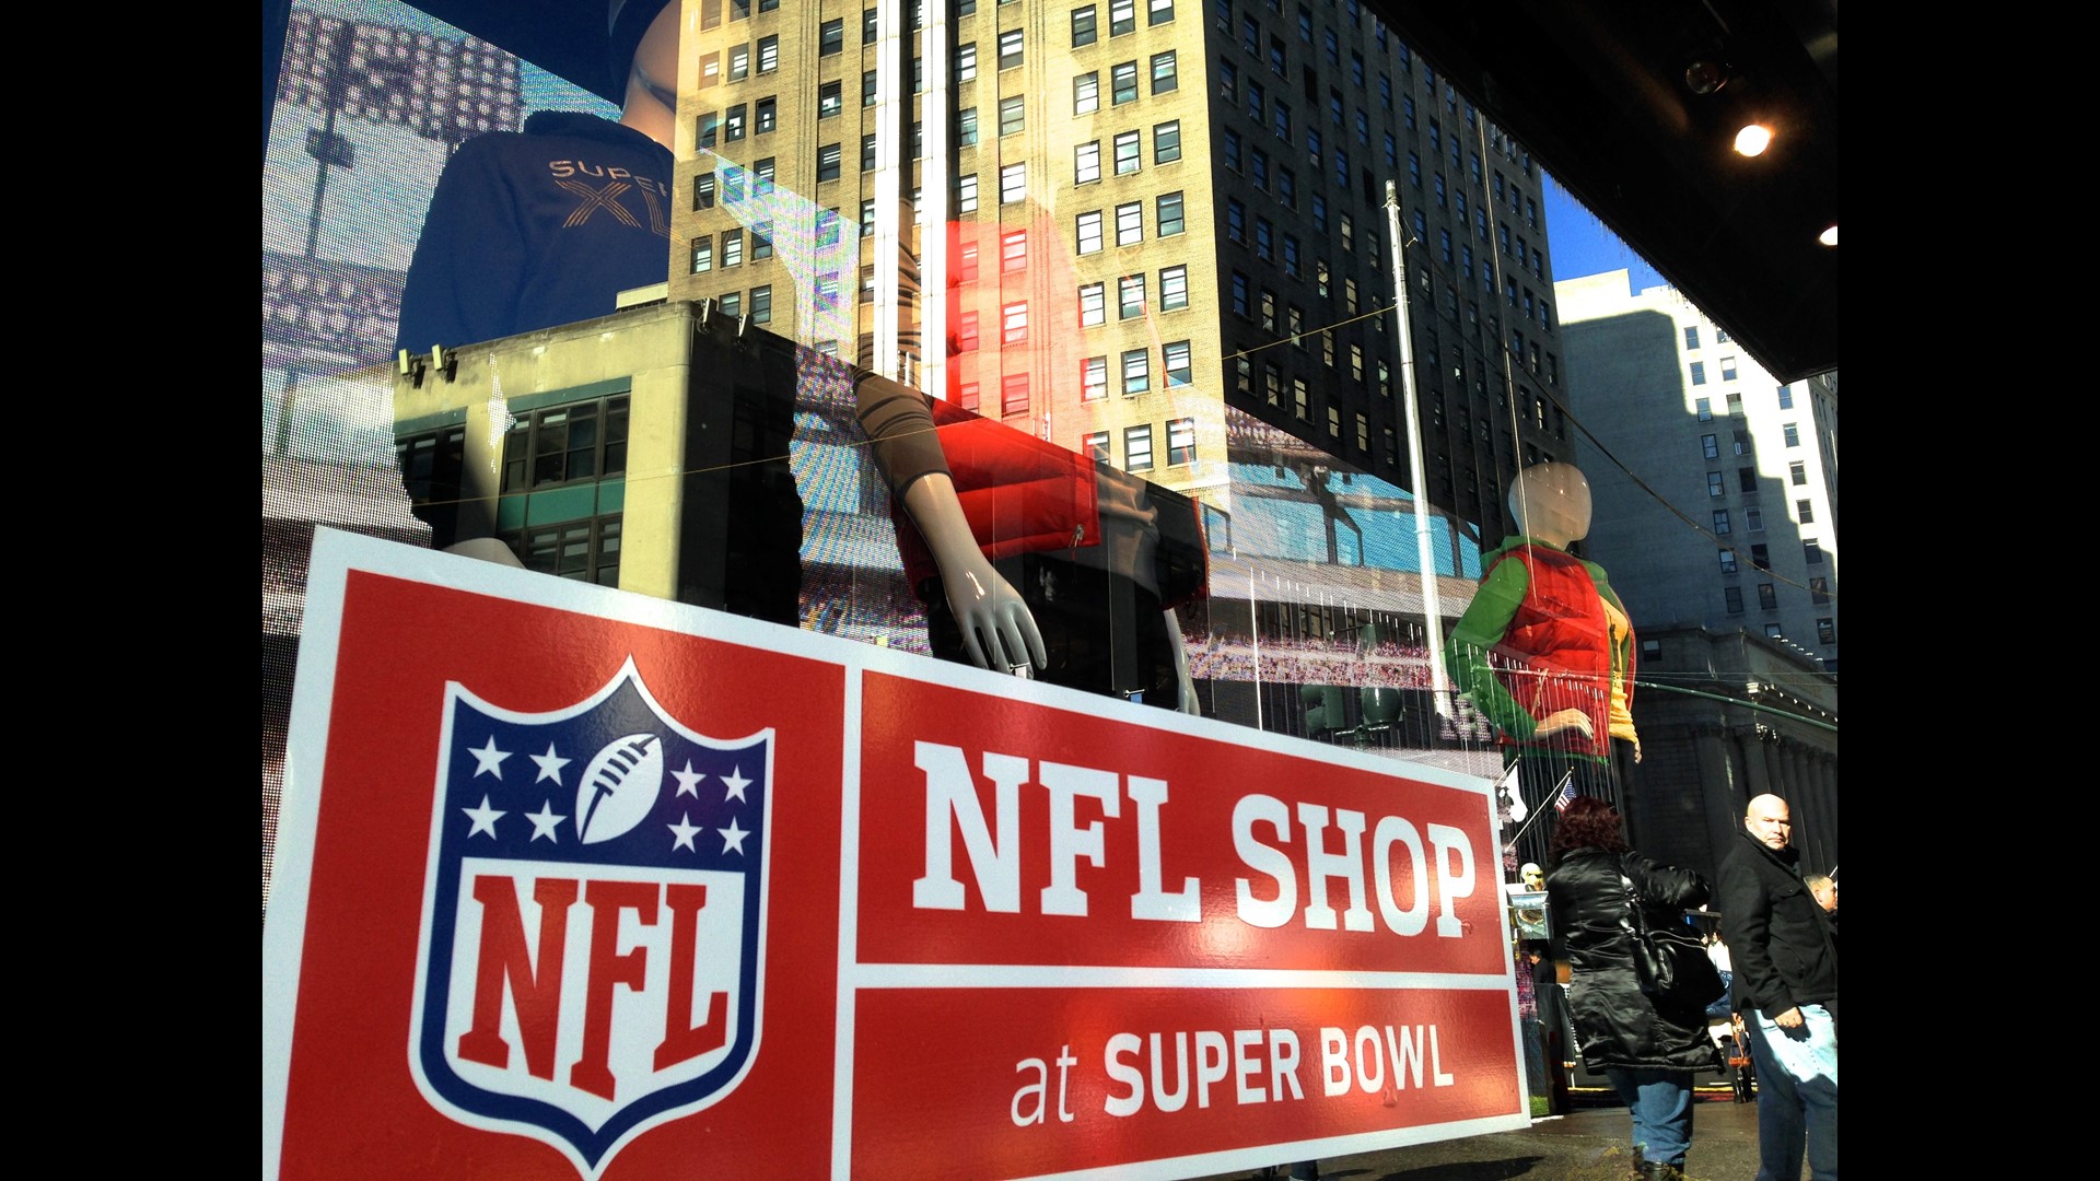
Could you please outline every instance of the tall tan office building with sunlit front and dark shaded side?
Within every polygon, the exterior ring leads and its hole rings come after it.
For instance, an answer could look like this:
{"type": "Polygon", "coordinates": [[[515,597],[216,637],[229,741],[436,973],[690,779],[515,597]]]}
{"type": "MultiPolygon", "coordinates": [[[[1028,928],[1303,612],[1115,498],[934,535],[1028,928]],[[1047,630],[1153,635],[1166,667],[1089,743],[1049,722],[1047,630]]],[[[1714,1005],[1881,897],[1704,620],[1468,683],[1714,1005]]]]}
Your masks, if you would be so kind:
{"type": "Polygon", "coordinates": [[[672,298],[1220,509],[1226,406],[1411,488],[1407,366],[1489,542],[1567,458],[1544,174],[1354,0],[697,2],[672,298]]]}

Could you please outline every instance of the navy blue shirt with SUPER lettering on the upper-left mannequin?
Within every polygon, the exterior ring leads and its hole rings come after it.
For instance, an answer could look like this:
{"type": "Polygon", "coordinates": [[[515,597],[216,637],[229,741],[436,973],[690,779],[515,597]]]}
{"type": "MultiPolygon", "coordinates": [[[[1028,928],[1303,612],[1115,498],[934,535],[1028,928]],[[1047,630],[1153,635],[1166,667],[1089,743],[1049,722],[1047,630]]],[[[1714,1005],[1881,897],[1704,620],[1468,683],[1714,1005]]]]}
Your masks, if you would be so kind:
{"type": "Polygon", "coordinates": [[[670,273],[670,151],[598,116],[540,111],[460,145],[401,292],[397,349],[424,353],[611,315],[670,273]]]}

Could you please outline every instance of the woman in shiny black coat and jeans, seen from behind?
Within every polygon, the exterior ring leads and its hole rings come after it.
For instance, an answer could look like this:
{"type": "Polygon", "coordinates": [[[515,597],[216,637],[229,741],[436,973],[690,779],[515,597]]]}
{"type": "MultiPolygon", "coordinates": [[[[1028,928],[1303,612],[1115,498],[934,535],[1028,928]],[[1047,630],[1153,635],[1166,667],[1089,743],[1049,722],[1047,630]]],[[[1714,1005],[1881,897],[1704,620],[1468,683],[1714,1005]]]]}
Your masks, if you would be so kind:
{"type": "Polygon", "coordinates": [[[1546,899],[1554,933],[1573,967],[1569,1009],[1581,1059],[1611,1078],[1634,1114],[1642,1177],[1682,1177],[1693,1139],[1693,1072],[1720,1065],[1707,1038],[1705,1002],[1657,1004],[1634,977],[1625,883],[1642,899],[1642,923],[1684,923],[1705,904],[1707,883],[1625,847],[1619,813],[1596,796],[1575,796],[1554,828],[1546,899]]]}

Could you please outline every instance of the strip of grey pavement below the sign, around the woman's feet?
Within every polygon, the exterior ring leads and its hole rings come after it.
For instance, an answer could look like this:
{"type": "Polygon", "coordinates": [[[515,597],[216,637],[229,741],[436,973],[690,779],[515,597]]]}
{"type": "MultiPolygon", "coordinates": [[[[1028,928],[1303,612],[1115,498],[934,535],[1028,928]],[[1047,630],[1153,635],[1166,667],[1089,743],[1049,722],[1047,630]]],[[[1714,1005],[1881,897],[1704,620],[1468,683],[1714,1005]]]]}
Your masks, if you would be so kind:
{"type": "MultiPolygon", "coordinates": [[[[1625,1107],[1583,1107],[1514,1133],[1321,1160],[1319,1175],[1323,1181],[1625,1181],[1630,1133],[1625,1107]]],[[[1758,1175],[1758,1105],[1699,1103],[1684,1164],[1690,1181],[1751,1181],[1758,1175]]],[[[1203,1181],[1250,1177],[1220,1173],[1203,1181]]]]}

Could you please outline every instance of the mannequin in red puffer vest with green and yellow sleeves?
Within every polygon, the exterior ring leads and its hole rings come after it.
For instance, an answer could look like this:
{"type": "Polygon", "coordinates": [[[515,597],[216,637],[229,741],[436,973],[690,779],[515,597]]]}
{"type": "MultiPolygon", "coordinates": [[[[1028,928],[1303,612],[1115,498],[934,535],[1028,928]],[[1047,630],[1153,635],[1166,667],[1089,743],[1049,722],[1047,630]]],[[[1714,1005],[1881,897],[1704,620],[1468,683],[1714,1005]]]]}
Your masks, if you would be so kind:
{"type": "Polygon", "coordinates": [[[1562,778],[1617,799],[1611,738],[1634,742],[1634,635],[1604,567],[1567,553],[1590,534],[1590,481],[1567,462],[1533,464],[1510,488],[1510,513],[1522,534],[1483,557],[1480,588],[1451,628],[1451,679],[1535,799],[1562,778]]]}

